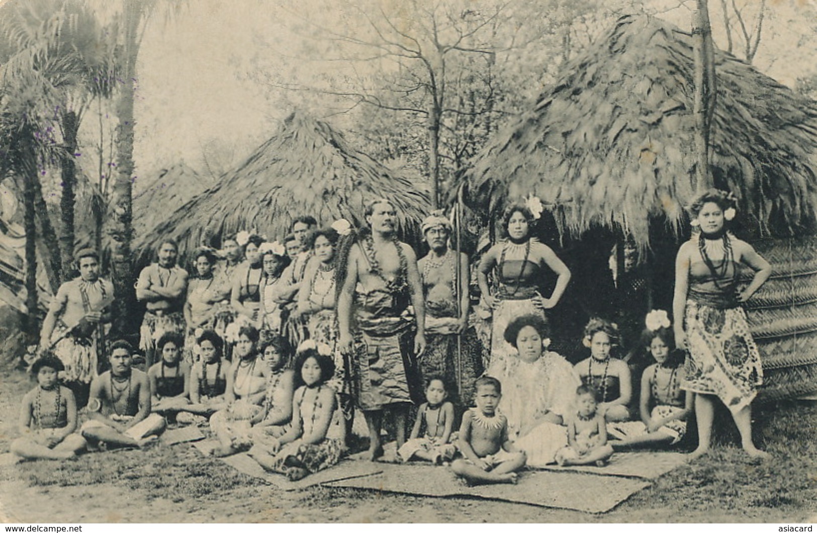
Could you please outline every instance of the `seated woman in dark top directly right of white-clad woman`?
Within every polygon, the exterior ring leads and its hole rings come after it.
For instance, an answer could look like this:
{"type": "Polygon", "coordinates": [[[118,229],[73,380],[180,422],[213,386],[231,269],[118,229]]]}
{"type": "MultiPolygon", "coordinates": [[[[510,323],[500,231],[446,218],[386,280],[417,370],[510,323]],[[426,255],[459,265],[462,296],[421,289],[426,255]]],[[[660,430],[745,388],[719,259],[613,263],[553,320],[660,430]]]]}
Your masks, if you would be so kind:
{"type": "Polygon", "coordinates": [[[608,422],[630,419],[627,404],[632,397],[630,367],[610,355],[618,340],[618,328],[609,321],[593,318],[584,328],[582,343],[590,357],[579,361],[574,370],[582,383],[596,391],[598,410],[608,422]]]}

